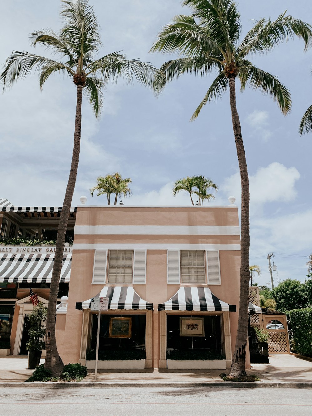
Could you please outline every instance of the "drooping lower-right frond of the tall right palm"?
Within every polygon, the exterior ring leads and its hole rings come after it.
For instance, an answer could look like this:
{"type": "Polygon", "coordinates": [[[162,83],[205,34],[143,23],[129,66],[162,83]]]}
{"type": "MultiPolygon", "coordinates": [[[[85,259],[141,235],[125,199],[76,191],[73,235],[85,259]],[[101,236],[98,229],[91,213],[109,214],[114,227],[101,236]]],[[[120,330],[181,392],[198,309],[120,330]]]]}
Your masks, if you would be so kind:
{"type": "Polygon", "coordinates": [[[290,92],[280,83],[277,77],[254,66],[240,69],[238,77],[242,90],[245,89],[246,84],[249,84],[254,89],[260,89],[264,94],[270,95],[277,102],[284,115],[290,112],[290,92]]]}

